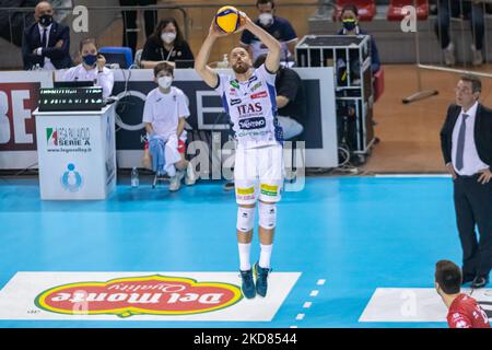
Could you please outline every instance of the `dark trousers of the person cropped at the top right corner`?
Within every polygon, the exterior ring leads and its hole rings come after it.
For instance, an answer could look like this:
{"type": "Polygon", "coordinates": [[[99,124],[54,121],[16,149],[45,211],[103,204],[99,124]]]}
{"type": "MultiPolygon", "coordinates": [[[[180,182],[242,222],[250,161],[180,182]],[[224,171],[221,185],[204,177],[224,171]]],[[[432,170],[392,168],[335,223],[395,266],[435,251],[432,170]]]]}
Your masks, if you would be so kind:
{"type": "Polygon", "coordinates": [[[435,32],[441,42],[441,47],[446,48],[449,45],[449,23],[450,18],[459,18],[462,14],[470,20],[471,33],[475,38],[475,47],[477,50],[482,49],[483,34],[485,33],[483,3],[471,3],[462,0],[461,4],[458,0],[437,0],[437,22],[435,23],[435,32]]]}

